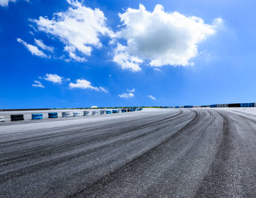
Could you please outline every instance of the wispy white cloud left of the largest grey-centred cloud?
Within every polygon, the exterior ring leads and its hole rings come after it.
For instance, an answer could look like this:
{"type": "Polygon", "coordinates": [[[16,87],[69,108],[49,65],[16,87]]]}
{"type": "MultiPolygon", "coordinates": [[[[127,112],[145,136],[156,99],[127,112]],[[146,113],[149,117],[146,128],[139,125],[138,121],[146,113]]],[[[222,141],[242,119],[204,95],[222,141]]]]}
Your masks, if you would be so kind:
{"type": "Polygon", "coordinates": [[[77,0],[67,0],[70,7],[65,12],[54,13],[54,17],[39,17],[32,20],[38,30],[59,38],[64,43],[64,51],[70,59],[86,61],[84,56],[90,56],[92,47],[100,48],[100,36],[112,34],[105,24],[104,13],[95,8],[87,8],[77,0]]]}

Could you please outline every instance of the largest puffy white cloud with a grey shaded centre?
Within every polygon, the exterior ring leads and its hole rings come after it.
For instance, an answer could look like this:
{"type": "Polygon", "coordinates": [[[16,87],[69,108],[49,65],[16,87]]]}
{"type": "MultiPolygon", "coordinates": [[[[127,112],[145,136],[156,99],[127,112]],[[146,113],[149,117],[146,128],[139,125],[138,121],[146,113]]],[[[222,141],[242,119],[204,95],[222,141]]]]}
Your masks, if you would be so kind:
{"type": "MultiPolygon", "coordinates": [[[[191,59],[198,54],[197,44],[213,35],[217,25],[205,24],[195,16],[165,12],[162,5],[156,5],[153,12],[143,5],[139,9],[128,8],[119,17],[123,25],[110,43],[121,38],[126,44],[117,43],[113,61],[132,71],[139,71],[142,62],[154,67],[193,64],[191,59]]],[[[221,19],[216,21],[220,23],[221,19]]]]}

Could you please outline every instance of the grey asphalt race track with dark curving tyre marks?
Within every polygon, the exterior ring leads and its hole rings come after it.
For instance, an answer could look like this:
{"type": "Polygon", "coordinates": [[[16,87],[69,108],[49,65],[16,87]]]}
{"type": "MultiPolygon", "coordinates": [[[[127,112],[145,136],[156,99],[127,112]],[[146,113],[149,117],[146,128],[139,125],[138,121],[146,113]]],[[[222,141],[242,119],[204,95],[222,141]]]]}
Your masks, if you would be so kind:
{"type": "Polygon", "coordinates": [[[0,197],[256,197],[256,108],[0,123],[0,197]]]}

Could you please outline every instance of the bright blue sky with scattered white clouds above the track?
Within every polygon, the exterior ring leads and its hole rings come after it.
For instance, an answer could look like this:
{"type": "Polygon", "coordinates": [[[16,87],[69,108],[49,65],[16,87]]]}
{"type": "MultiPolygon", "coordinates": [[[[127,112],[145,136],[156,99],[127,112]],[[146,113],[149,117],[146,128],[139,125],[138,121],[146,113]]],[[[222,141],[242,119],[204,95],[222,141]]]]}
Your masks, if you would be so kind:
{"type": "Polygon", "coordinates": [[[0,109],[256,102],[255,9],[0,0],[0,109]]]}

